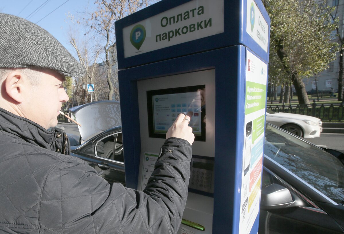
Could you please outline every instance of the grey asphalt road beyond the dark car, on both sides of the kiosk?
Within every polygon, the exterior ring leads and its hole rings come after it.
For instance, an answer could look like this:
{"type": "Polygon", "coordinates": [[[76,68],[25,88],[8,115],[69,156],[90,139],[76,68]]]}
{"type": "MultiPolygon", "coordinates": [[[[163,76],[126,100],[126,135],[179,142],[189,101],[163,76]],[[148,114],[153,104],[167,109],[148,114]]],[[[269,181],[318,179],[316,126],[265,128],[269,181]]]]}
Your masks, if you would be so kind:
{"type": "MultiPolygon", "coordinates": [[[[64,128],[64,131],[69,134],[74,134],[77,137],[80,136],[79,129],[76,124],[59,123],[57,127],[64,128]]],[[[305,138],[305,140],[321,147],[327,147],[334,150],[344,150],[344,134],[321,133],[320,137],[305,138]]]]}

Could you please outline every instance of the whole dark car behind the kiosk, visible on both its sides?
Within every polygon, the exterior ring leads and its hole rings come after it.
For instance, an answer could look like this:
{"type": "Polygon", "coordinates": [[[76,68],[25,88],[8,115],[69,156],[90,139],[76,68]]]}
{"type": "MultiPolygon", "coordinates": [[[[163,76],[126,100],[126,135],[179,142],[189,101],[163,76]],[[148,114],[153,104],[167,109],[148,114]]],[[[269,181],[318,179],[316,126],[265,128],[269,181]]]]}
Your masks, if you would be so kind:
{"type": "MultiPolygon", "coordinates": [[[[72,147],[108,182],[125,185],[121,126],[72,147]]],[[[344,160],[266,124],[258,233],[344,233],[344,160]]]]}

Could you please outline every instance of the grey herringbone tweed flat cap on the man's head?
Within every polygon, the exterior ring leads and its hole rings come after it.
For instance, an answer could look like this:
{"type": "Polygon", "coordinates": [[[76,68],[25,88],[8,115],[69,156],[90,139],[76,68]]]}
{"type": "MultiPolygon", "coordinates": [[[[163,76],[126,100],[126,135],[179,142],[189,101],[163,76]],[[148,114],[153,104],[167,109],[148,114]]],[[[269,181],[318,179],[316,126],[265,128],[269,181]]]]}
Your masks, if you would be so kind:
{"type": "Polygon", "coordinates": [[[85,68],[49,32],[20,17],[0,13],[0,67],[50,68],[81,77],[85,68]]]}

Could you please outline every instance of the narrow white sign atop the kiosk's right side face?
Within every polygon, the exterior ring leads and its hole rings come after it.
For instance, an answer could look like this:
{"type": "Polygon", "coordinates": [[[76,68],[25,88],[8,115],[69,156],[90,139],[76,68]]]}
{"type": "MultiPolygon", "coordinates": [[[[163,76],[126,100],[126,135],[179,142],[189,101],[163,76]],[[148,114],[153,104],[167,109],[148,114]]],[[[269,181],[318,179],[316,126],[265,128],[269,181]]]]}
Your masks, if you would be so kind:
{"type": "Polygon", "coordinates": [[[246,32],[268,52],[269,27],[254,0],[247,1],[246,32]]]}

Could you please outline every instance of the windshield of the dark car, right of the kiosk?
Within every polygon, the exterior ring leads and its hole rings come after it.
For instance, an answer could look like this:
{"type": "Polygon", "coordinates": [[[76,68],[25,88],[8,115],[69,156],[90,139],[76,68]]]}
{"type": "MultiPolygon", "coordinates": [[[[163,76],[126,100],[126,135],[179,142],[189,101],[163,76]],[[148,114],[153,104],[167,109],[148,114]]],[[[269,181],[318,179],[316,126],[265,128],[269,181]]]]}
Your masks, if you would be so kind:
{"type": "Polygon", "coordinates": [[[333,155],[266,125],[264,154],[338,204],[344,201],[344,166],[333,155]]]}

